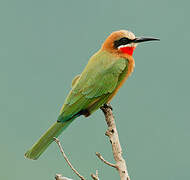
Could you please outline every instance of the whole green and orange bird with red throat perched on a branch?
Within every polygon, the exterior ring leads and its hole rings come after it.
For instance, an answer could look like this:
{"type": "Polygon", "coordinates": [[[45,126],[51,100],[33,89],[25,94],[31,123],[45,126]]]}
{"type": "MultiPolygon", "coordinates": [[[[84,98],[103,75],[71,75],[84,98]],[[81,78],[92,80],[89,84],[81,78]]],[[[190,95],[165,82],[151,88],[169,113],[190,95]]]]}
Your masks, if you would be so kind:
{"type": "Polygon", "coordinates": [[[101,48],[89,59],[83,72],[72,80],[72,87],[60,110],[57,121],[25,153],[36,160],[77,117],[90,116],[109,104],[123,83],[132,74],[133,52],[141,42],[159,41],[152,37],[135,37],[128,30],[112,32],[101,48]]]}

